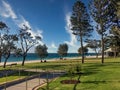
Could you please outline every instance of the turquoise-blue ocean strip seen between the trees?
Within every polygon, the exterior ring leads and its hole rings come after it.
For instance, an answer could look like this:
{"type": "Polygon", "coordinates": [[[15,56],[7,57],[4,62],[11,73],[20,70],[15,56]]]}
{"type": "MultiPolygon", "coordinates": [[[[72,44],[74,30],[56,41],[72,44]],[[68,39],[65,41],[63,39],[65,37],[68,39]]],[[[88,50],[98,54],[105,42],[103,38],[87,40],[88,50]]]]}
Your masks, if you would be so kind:
{"type": "MultiPolygon", "coordinates": [[[[88,53],[86,56],[93,56],[95,53],[88,53]]],[[[78,53],[68,53],[67,57],[78,57],[81,56],[78,53]]],[[[57,53],[49,53],[46,60],[51,59],[58,59],[60,56],[57,53]]],[[[40,60],[40,57],[36,53],[28,53],[26,61],[33,61],[33,60],[40,60]]],[[[7,62],[19,62],[22,61],[22,57],[15,57],[14,55],[11,55],[7,62]]],[[[4,58],[2,58],[2,62],[4,62],[4,58]]]]}

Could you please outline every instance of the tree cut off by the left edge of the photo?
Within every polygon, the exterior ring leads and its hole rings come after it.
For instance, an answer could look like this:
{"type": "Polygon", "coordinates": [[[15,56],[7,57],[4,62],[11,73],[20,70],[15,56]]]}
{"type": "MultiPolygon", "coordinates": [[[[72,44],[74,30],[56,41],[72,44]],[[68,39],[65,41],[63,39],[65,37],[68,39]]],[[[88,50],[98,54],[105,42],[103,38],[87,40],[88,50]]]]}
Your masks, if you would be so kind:
{"type": "Polygon", "coordinates": [[[8,32],[8,27],[4,22],[0,22],[0,63],[3,55],[3,35],[8,32]]]}

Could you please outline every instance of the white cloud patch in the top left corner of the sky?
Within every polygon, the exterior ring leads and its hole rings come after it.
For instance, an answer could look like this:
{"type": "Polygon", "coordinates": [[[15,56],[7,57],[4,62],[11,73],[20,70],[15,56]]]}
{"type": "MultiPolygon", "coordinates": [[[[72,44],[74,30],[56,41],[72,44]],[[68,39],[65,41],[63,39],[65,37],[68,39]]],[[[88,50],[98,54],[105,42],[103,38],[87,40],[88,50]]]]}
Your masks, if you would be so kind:
{"type": "Polygon", "coordinates": [[[10,6],[9,3],[5,2],[2,0],[2,6],[0,7],[0,15],[5,17],[5,18],[12,18],[16,19],[17,15],[13,11],[12,7],[10,6]]]}

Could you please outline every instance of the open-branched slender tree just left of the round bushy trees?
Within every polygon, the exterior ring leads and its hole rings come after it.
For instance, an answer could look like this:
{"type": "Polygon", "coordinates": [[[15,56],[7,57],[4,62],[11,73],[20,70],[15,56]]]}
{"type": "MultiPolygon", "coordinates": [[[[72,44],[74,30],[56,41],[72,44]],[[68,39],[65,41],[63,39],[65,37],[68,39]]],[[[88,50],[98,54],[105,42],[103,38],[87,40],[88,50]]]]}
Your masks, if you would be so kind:
{"type": "Polygon", "coordinates": [[[31,29],[25,25],[19,30],[19,42],[23,57],[22,66],[24,66],[28,51],[41,40],[41,37],[39,36],[32,37],[29,32],[30,30],[31,29]]]}

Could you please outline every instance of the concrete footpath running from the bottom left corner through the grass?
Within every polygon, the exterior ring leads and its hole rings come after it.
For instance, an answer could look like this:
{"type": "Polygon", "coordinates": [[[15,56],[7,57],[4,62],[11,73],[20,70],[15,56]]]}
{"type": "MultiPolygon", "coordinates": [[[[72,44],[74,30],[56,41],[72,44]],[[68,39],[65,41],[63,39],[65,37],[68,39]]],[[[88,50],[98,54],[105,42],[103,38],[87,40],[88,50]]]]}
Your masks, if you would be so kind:
{"type": "Polygon", "coordinates": [[[12,83],[11,85],[4,85],[0,88],[0,90],[35,90],[36,86],[40,86],[46,83],[46,78],[52,80],[61,75],[65,74],[65,72],[49,72],[43,73],[40,76],[35,76],[33,78],[24,79],[22,81],[17,81],[17,83],[12,83]],[[6,88],[5,88],[6,87],[6,88]]]}

